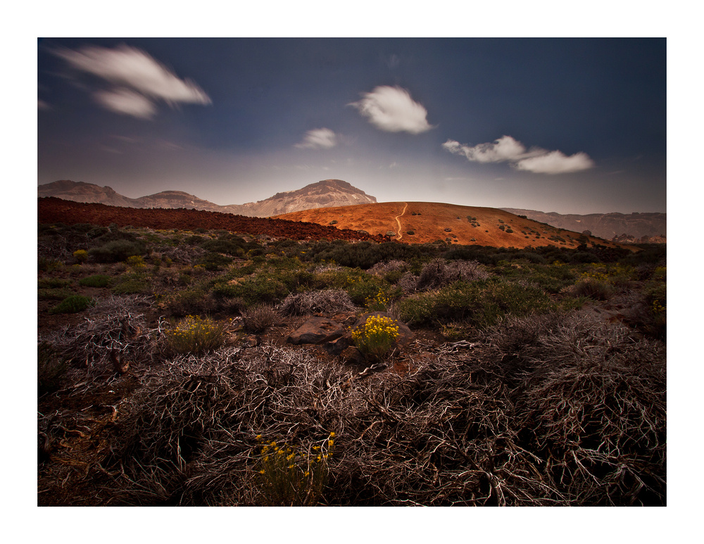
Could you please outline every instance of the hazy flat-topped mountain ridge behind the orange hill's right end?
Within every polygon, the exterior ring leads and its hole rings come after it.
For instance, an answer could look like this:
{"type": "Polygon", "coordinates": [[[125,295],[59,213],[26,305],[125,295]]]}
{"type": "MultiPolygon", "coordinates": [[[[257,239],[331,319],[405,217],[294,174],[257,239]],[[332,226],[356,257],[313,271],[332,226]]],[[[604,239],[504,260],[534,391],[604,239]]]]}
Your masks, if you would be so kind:
{"type": "Polygon", "coordinates": [[[589,230],[594,236],[613,240],[615,236],[627,236],[634,241],[665,239],[667,234],[666,213],[591,213],[589,215],[539,212],[520,208],[501,208],[515,215],[525,215],[528,219],[547,223],[560,229],[584,232],[589,230]],[[639,240],[640,239],[640,240],[639,240]]]}

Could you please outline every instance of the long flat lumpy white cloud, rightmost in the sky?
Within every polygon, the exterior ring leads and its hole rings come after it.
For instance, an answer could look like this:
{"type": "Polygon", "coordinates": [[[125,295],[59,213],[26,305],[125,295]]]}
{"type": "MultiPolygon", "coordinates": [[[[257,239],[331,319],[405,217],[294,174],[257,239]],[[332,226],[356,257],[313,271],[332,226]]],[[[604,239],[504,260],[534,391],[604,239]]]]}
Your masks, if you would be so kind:
{"type": "Polygon", "coordinates": [[[594,166],[594,161],[582,151],[566,156],[562,151],[548,151],[539,147],[528,150],[520,141],[510,136],[502,136],[494,142],[476,146],[467,146],[448,139],[442,146],[450,153],[464,155],[471,162],[508,162],[516,170],[536,174],[566,174],[589,170],[594,166]]]}

